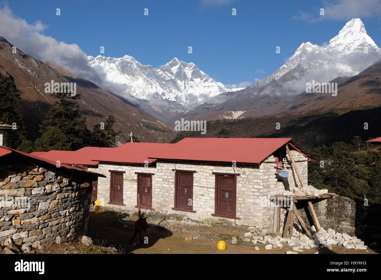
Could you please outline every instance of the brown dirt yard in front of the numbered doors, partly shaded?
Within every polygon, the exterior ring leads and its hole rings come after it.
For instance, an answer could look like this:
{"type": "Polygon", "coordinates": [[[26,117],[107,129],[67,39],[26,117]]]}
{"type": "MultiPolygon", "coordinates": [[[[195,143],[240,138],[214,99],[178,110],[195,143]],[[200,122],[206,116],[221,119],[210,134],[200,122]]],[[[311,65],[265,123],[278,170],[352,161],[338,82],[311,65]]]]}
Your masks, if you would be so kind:
{"type": "MultiPolygon", "coordinates": [[[[147,232],[143,232],[143,240],[146,240],[147,244],[140,247],[137,245],[129,244],[131,237],[133,236],[134,229],[132,224],[126,225],[123,221],[126,219],[126,214],[110,213],[108,211],[100,211],[95,214],[93,211],[90,213],[90,220],[88,224],[88,235],[93,239],[98,239],[99,243],[103,246],[113,245],[121,253],[133,253],[133,254],[284,254],[286,251],[291,250],[292,247],[287,243],[283,243],[283,248],[273,248],[271,250],[265,250],[266,244],[257,243],[254,245],[252,242],[237,242],[232,244],[231,240],[233,236],[242,236],[244,232],[242,229],[235,229],[233,226],[227,228],[211,227],[202,225],[186,225],[187,227],[194,227],[201,232],[207,232],[213,235],[213,239],[210,237],[203,237],[200,234],[189,234],[185,232],[171,232],[164,228],[159,230],[148,229],[147,232]],[[124,219],[124,220],[123,220],[124,219]],[[198,236],[197,236],[198,235],[198,236]],[[185,238],[193,237],[193,240],[185,241],[185,238]],[[218,239],[216,239],[216,237],[218,239]],[[225,240],[227,248],[224,251],[217,249],[217,241],[225,240]],[[259,250],[255,250],[254,247],[258,246],[259,250]]],[[[131,217],[131,220],[136,220],[136,217],[131,217]]],[[[163,221],[163,223],[176,222],[176,221],[163,221]]],[[[149,218],[147,223],[150,224],[149,218]]],[[[181,226],[181,223],[178,222],[181,226]]],[[[139,235],[135,238],[135,242],[138,241],[139,235]]],[[[299,254],[314,254],[319,251],[319,254],[376,254],[376,251],[369,250],[354,250],[345,249],[343,246],[334,245],[332,250],[326,248],[309,250],[304,249],[299,254]]],[[[46,250],[44,250],[46,251],[46,250]]],[[[378,251],[378,250],[377,250],[378,251]]]]}

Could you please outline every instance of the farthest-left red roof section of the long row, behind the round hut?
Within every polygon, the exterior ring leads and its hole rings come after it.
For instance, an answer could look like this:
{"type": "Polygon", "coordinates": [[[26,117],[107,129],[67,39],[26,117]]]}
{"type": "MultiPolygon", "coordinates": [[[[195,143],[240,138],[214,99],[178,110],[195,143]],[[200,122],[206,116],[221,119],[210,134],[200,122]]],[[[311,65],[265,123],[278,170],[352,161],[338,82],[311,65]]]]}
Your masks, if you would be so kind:
{"type": "Polygon", "coordinates": [[[32,155],[46,158],[56,162],[59,160],[61,163],[75,164],[75,165],[97,165],[98,162],[93,161],[94,157],[99,154],[110,152],[115,148],[102,148],[102,147],[83,147],[76,151],[61,151],[51,150],[49,152],[33,152],[32,155]]]}

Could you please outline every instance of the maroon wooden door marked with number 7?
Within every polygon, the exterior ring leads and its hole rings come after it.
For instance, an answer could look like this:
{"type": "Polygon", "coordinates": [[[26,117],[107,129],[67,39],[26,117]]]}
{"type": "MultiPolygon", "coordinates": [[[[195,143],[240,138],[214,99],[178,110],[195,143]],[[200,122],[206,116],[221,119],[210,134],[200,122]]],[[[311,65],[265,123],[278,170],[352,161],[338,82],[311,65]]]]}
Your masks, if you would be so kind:
{"type": "Polygon", "coordinates": [[[174,191],[176,209],[193,210],[193,173],[176,172],[176,188],[174,191]]]}

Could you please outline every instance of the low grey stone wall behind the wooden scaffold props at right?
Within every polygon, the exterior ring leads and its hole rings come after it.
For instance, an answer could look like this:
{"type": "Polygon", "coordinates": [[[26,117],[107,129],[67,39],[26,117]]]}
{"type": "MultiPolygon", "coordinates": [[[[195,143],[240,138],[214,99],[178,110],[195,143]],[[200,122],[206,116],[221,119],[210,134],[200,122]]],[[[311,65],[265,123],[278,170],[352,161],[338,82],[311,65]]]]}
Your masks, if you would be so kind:
{"type": "MultiPolygon", "coordinates": [[[[373,203],[364,205],[363,200],[353,200],[344,196],[315,200],[312,203],[320,226],[351,236],[362,235],[364,218],[377,206],[373,203]]],[[[298,202],[296,207],[306,225],[312,226],[314,223],[307,203],[298,202]]]]}

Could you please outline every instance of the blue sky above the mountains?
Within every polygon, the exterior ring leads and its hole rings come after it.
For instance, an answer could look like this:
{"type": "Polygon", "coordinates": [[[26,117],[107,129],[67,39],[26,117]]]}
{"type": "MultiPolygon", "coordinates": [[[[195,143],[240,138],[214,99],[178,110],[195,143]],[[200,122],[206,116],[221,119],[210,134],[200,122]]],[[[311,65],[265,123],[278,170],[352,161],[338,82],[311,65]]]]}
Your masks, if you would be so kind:
{"type": "Polygon", "coordinates": [[[352,18],[361,18],[368,35],[381,46],[380,0],[343,1],[5,3],[28,24],[40,20],[46,26],[42,34],[77,44],[88,55],[99,55],[99,47],[104,46],[104,56],[128,54],[153,67],[177,57],[194,62],[218,82],[239,85],[270,75],[303,42],[328,43],[352,18]],[[61,9],[60,16],[56,8],[61,9]],[[149,9],[148,16],[144,16],[144,8],[149,9]],[[232,8],[237,9],[236,16],[232,8]],[[325,8],[324,16],[319,15],[320,8],[325,8]],[[192,54],[188,46],[192,46],[192,54]],[[280,54],[275,53],[276,46],[280,46],[280,54]]]}

